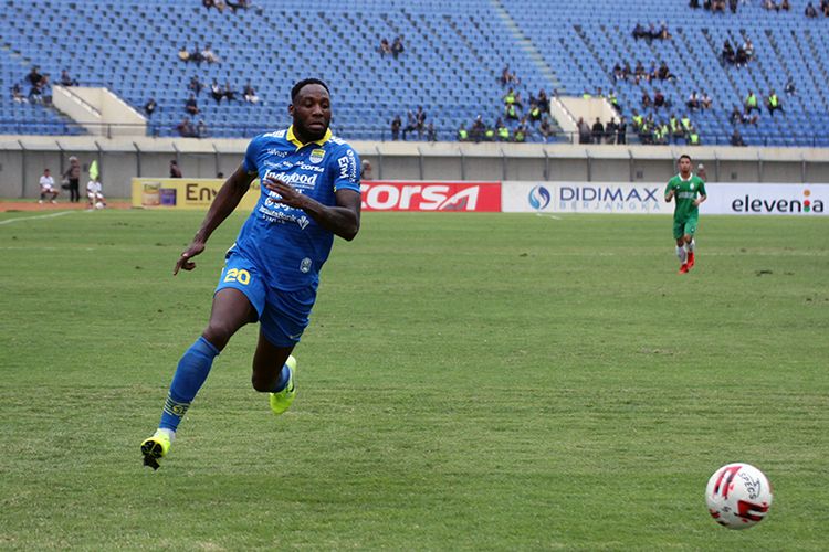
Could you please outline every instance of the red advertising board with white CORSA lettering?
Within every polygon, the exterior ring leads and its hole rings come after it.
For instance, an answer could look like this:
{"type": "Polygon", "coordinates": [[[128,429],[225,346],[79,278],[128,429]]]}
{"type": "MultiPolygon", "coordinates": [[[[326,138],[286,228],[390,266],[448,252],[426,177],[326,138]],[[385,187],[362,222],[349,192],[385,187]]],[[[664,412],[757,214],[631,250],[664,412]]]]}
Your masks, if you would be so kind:
{"type": "Polygon", "coordinates": [[[401,182],[360,185],[364,211],[501,211],[500,182],[401,182]]]}

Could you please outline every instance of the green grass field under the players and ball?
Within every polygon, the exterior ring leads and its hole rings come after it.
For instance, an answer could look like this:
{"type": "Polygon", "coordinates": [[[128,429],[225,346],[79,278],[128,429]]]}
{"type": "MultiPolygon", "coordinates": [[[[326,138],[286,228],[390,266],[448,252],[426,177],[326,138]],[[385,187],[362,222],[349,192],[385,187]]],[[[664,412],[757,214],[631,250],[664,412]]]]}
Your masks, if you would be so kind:
{"type": "Polygon", "coordinates": [[[258,330],[161,469],[155,428],[242,215],[0,213],[0,548],[826,550],[829,219],[364,215],[337,242],[280,418],[258,330]],[[4,223],[10,219],[29,220],[4,223]],[[709,517],[747,461],[767,520],[709,517]]]}

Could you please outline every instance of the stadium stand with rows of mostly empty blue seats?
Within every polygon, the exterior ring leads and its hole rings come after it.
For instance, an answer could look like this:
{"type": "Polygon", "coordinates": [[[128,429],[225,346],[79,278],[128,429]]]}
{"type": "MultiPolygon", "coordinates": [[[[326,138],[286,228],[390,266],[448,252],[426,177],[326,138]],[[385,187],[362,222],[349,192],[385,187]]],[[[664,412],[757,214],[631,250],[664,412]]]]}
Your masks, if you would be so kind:
{"type": "MultiPolygon", "coordinates": [[[[769,116],[762,106],[756,125],[738,124],[749,145],[829,146],[829,18],[807,19],[763,10],[759,2],[739,4],[736,14],[692,10],[683,0],[642,0],[618,9],[613,0],[319,0],[308,9],[301,0],[256,0],[231,13],[206,9],[199,0],[38,0],[3,6],[0,28],[0,132],[84,134],[82,127],[48,105],[14,102],[10,89],[33,65],[52,81],[69,68],[85,86],[106,86],[141,110],[149,97],[158,109],[148,132],[177,136],[185,117],[187,87],[197,75],[206,89],[198,97],[211,137],[249,137],[288,123],[285,103],[291,84],[319,76],[336,102],[335,130],[348,139],[390,139],[389,125],[422,106],[438,139],[479,115],[492,125],[503,116],[505,87],[497,81],[505,65],[521,78],[525,102],[539,89],[560,95],[616,91],[620,112],[688,114],[702,144],[727,144],[731,112],[748,91],[760,104],[777,91],[784,113],[769,116]],[[664,22],[670,40],[634,40],[637,23],[664,22]],[[405,52],[380,56],[380,40],[402,36],[405,52]],[[724,64],[723,41],[751,39],[755,53],[745,67],[724,64]],[[182,62],[181,46],[211,44],[220,63],[182,62]],[[646,67],[664,62],[676,79],[617,82],[618,62],[646,67]],[[217,103],[209,85],[230,83],[237,100],[217,103]],[[796,95],[784,94],[791,79],[796,95]],[[261,98],[242,100],[250,81],[261,98]],[[643,91],[659,87],[670,108],[642,108],[643,91]],[[713,107],[689,113],[685,99],[705,91],[713,107]]],[[[28,93],[28,86],[23,86],[28,93]]],[[[525,106],[526,109],[526,106],[525,106]]],[[[515,123],[513,124],[513,128],[515,123]]],[[[560,127],[555,127],[560,129],[560,127]]],[[[419,138],[423,138],[422,135],[419,138]]],[[[568,139],[560,136],[559,139],[568,139]]],[[[531,132],[528,141],[541,140],[531,132]]]]}

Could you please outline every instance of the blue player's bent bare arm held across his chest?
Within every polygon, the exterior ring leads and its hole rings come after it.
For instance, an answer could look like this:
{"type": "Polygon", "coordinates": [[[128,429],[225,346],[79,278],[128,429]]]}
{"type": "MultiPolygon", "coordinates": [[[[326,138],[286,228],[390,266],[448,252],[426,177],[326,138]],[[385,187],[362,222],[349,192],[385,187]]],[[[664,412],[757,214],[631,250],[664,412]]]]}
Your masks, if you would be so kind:
{"type": "Polygon", "coordinates": [[[354,190],[337,190],[335,194],[336,206],[327,206],[272,177],[267,178],[264,187],[280,194],[281,198],[274,198],[273,201],[295,209],[302,209],[322,227],[344,240],[350,242],[357,235],[357,232],[359,232],[360,194],[354,190]]]}

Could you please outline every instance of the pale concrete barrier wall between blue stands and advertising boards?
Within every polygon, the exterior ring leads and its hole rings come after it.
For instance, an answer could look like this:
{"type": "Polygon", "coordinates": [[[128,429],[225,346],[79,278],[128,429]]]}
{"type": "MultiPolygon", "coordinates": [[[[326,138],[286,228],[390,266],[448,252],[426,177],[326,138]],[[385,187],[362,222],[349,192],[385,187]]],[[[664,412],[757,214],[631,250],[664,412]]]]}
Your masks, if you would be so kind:
{"type": "MultiPolygon", "coordinates": [[[[248,140],[0,136],[0,197],[35,198],[44,168],[57,176],[77,156],[88,179],[97,160],[111,198],[130,194],[133,177],[169,176],[176,159],[185,176],[230,176],[248,140]]],[[[579,146],[458,142],[354,141],[384,180],[523,180],[663,182],[684,152],[703,162],[712,182],[829,182],[829,151],[809,148],[681,148],[673,146],[579,146]]]]}

